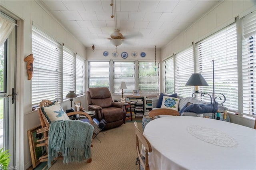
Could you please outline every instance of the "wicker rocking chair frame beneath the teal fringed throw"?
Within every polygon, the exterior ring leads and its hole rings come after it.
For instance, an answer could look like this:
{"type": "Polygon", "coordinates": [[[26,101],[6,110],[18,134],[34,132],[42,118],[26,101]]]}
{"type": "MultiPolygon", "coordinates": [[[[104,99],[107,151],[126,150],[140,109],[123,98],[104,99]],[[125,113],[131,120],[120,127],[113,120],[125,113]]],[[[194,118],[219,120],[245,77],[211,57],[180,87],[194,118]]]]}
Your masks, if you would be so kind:
{"type": "MultiPolygon", "coordinates": [[[[42,100],[40,102],[39,105],[39,109],[38,109],[38,114],[39,114],[39,119],[40,119],[40,123],[42,128],[38,129],[36,132],[37,134],[43,134],[43,138],[40,140],[37,140],[37,142],[41,142],[40,144],[37,144],[36,147],[41,147],[41,146],[46,146],[46,154],[44,156],[41,156],[39,158],[40,162],[46,162],[48,161],[48,132],[49,132],[49,128],[50,128],[50,123],[49,121],[46,119],[44,113],[42,112],[42,107],[48,107],[50,105],[52,105],[53,103],[50,100],[42,100]]],[[[89,119],[90,124],[92,125],[92,118],[90,117],[90,115],[88,115],[85,112],[81,112],[81,111],[76,111],[76,112],[70,112],[67,113],[68,117],[72,116],[72,115],[76,115],[76,114],[80,114],[80,115],[84,115],[86,116],[85,118],[89,119]]],[[[91,144],[91,147],[92,144],[91,144]]],[[[61,154],[60,154],[61,155],[61,154]]],[[[63,156],[59,156],[56,159],[63,159],[63,156]]],[[[88,159],[87,162],[92,162],[92,158],[88,159]]]]}

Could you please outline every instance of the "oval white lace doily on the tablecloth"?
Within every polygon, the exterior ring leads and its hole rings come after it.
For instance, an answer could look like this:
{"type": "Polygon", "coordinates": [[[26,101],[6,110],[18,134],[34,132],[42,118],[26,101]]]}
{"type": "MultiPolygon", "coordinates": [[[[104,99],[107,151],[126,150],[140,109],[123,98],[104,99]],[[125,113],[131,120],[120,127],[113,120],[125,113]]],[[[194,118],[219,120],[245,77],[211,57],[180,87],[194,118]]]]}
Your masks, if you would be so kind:
{"type": "Polygon", "coordinates": [[[191,125],[187,127],[187,131],[196,138],[211,144],[224,147],[237,146],[234,138],[213,128],[202,127],[199,125],[191,125]]]}

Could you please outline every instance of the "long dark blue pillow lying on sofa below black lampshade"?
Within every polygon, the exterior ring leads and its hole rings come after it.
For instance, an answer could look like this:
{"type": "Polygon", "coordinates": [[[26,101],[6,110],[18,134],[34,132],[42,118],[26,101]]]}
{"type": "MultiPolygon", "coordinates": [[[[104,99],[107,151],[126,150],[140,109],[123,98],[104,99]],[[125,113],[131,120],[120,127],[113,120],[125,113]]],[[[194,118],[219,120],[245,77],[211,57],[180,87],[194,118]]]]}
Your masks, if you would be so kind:
{"type": "MultiPolygon", "coordinates": [[[[184,106],[185,107],[185,106],[184,106]]],[[[213,105],[198,105],[198,104],[193,104],[193,105],[189,105],[188,107],[186,108],[182,108],[181,109],[182,112],[194,112],[194,113],[212,113],[213,111],[213,105]]],[[[215,108],[214,108],[214,112],[216,112],[218,110],[218,105],[215,105],[215,108]]]]}

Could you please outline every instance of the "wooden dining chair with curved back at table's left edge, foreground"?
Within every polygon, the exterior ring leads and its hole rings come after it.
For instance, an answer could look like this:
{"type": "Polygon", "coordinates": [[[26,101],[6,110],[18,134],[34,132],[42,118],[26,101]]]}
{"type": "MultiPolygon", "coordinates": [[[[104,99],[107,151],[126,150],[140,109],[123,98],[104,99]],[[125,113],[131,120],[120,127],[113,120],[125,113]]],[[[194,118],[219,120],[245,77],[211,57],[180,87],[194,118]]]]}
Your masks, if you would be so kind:
{"type": "Polygon", "coordinates": [[[136,150],[137,150],[137,160],[136,164],[140,165],[140,170],[149,170],[148,164],[148,152],[152,152],[151,144],[148,142],[148,139],[142,134],[142,132],[138,129],[137,122],[134,122],[135,134],[136,134],[136,150]],[[142,143],[145,150],[145,157],[140,154],[140,145],[139,142],[142,143]]]}

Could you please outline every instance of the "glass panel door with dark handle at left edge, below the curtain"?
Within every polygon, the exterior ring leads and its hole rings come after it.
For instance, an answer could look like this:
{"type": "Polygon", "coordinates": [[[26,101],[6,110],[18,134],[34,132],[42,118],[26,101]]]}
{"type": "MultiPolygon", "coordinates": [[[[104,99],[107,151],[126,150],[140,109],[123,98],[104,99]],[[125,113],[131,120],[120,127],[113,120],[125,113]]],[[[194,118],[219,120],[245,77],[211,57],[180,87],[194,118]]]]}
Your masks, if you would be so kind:
{"type": "Polygon", "coordinates": [[[9,150],[10,166],[14,166],[15,134],[15,28],[0,47],[0,148],[9,150]]]}

